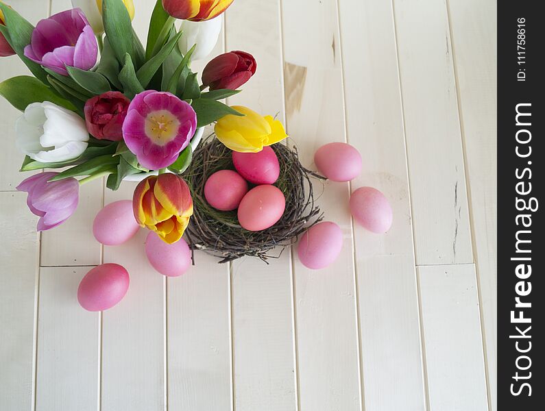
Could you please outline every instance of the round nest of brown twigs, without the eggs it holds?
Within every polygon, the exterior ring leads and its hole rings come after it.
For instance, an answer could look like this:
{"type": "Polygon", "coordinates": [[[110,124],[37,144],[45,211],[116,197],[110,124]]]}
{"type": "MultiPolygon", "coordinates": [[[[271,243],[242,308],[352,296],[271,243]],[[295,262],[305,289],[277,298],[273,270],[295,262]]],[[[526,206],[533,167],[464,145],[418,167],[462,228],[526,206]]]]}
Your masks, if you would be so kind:
{"type": "Polygon", "coordinates": [[[284,193],[286,208],[275,225],[263,231],[250,232],[239,225],[237,210],[216,210],[204,198],[204,184],[210,175],[220,170],[234,170],[232,151],[213,135],[197,147],[184,173],[193,196],[193,216],[186,229],[192,251],[204,250],[221,258],[220,262],[243,256],[258,257],[266,262],[267,258],[280,257],[283,249],[293,245],[300,234],[322,221],[323,214],[315,204],[312,179],[322,180],[324,177],[301,165],[295,147],[276,144],[271,148],[280,163],[280,177],[274,186],[284,193]],[[270,253],[273,249],[275,255],[270,253]]]}

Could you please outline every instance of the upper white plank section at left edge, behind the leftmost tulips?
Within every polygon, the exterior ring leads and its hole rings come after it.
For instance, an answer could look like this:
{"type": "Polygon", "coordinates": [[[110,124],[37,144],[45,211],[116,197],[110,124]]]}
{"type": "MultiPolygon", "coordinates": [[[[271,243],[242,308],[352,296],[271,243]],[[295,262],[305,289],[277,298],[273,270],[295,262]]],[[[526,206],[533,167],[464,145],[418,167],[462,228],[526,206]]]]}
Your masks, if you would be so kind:
{"type": "MultiPolygon", "coordinates": [[[[49,1],[13,0],[9,2],[12,8],[24,16],[32,24],[38,23],[41,18],[47,17],[49,1]]],[[[0,61],[0,82],[18,75],[30,75],[30,71],[19,57],[3,57],[0,61]]],[[[21,115],[19,110],[0,97],[0,112],[2,113],[2,131],[0,135],[5,141],[0,164],[0,191],[15,190],[15,187],[26,177],[34,174],[19,173],[25,156],[15,147],[15,121],[21,115]]]]}

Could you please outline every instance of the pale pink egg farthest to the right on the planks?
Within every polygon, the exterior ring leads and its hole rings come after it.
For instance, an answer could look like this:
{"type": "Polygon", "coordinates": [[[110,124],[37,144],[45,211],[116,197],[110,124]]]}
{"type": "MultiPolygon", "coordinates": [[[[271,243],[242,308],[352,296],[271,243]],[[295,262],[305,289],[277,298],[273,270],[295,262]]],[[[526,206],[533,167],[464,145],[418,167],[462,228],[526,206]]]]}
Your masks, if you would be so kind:
{"type": "Polygon", "coordinates": [[[393,220],[388,199],[382,192],[372,187],[361,187],[352,192],[350,211],[358,223],[370,232],[387,232],[393,220]]]}

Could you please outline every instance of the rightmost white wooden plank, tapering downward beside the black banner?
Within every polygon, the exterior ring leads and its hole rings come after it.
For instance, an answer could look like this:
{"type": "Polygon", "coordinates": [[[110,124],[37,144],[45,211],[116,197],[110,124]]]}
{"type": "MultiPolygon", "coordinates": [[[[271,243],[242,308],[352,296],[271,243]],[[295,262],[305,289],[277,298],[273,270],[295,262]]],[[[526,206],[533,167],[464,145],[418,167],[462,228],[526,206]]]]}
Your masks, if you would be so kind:
{"type": "Polygon", "coordinates": [[[450,1],[473,247],[481,294],[489,401],[496,404],[496,1],[450,1]]]}

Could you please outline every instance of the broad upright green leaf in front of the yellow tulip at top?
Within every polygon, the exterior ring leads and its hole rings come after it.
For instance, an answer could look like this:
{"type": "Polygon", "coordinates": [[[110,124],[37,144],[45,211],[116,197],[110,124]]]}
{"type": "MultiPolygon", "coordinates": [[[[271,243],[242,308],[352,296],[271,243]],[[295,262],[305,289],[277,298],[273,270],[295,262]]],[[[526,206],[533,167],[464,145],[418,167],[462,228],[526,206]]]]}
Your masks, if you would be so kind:
{"type": "Polygon", "coordinates": [[[119,62],[125,61],[129,54],[136,61],[134,53],[134,35],[129,12],[121,0],[102,1],[102,21],[104,31],[119,62]]]}

